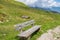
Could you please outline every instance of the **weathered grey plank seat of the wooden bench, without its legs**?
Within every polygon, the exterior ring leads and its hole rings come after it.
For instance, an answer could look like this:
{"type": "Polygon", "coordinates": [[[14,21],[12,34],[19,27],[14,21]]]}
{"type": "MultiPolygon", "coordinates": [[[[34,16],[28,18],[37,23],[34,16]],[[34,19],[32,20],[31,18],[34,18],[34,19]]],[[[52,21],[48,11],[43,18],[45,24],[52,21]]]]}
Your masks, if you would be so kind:
{"type": "Polygon", "coordinates": [[[36,25],[30,28],[29,30],[22,32],[18,36],[21,38],[28,38],[32,33],[36,32],[38,29],[40,29],[40,25],[36,25]]]}

